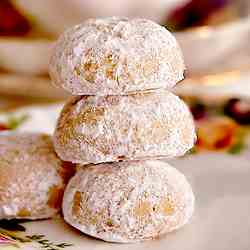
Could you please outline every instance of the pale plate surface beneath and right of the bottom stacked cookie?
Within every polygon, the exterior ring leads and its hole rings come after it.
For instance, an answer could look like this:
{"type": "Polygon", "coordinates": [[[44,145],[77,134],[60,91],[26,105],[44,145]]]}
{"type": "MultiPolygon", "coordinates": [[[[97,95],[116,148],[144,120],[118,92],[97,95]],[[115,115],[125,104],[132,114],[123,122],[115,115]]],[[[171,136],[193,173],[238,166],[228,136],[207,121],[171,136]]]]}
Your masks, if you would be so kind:
{"type": "MultiPolygon", "coordinates": [[[[56,250],[61,248],[55,245],[62,243],[72,244],[68,250],[249,250],[249,160],[245,155],[214,153],[172,161],[193,186],[196,210],[188,225],[161,239],[133,245],[106,243],[81,234],[61,218],[24,223],[26,232],[20,235],[44,235],[48,249],[56,250]]],[[[42,245],[20,244],[25,250],[43,249],[42,245]]]]}

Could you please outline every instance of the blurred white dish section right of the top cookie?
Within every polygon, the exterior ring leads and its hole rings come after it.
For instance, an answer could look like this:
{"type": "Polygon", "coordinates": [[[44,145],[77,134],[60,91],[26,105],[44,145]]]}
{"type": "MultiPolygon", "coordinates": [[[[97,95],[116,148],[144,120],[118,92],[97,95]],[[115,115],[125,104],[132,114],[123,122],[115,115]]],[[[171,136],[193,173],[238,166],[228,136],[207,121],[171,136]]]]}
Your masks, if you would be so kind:
{"type": "Polygon", "coordinates": [[[206,74],[249,68],[250,17],[216,27],[177,32],[176,38],[188,72],[206,74]]]}

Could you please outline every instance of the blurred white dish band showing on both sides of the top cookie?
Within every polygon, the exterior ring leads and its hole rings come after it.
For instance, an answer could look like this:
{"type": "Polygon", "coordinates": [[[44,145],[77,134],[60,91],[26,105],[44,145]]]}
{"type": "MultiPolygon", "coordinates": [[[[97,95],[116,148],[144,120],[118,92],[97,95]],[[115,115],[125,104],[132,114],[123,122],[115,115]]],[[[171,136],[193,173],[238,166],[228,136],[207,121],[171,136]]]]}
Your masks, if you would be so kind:
{"type": "MultiPolygon", "coordinates": [[[[218,73],[249,67],[250,17],[218,27],[177,32],[175,36],[190,73],[218,73]]],[[[45,74],[53,42],[42,38],[0,38],[0,68],[16,73],[45,74]]]]}

